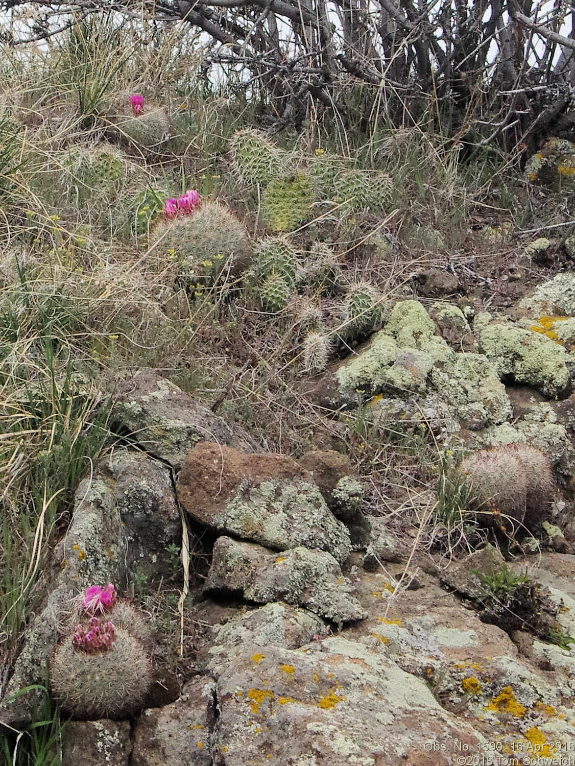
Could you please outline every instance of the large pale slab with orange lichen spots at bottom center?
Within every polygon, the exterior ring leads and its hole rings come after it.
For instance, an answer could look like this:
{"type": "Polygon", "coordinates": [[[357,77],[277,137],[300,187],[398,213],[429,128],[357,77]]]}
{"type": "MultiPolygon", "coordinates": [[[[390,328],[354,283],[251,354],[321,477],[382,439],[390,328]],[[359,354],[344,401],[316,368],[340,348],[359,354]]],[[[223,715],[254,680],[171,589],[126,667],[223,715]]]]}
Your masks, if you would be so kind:
{"type": "Polygon", "coordinates": [[[219,676],[217,697],[212,748],[221,766],[447,766],[453,741],[479,747],[480,735],[423,680],[343,638],[250,647],[219,676]]]}

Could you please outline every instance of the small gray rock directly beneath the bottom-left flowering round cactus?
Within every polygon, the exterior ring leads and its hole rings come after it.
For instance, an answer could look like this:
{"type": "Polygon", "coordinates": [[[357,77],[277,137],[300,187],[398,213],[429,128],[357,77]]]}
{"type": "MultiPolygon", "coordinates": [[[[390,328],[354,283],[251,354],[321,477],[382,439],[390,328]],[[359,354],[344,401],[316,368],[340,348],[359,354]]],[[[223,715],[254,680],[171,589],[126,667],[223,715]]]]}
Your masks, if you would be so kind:
{"type": "Polygon", "coordinates": [[[128,766],[128,721],[69,721],[62,735],[62,766],[128,766]]]}

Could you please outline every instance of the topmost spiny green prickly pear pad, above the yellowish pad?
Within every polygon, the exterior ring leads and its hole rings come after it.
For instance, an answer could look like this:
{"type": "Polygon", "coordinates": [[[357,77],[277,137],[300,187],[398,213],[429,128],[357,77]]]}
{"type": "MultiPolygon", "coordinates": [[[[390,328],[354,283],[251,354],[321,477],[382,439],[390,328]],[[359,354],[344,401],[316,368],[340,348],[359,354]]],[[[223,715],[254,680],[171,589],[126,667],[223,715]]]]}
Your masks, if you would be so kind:
{"type": "Polygon", "coordinates": [[[259,130],[238,130],[231,139],[233,170],[243,183],[266,186],[272,178],[283,175],[288,155],[259,130]]]}

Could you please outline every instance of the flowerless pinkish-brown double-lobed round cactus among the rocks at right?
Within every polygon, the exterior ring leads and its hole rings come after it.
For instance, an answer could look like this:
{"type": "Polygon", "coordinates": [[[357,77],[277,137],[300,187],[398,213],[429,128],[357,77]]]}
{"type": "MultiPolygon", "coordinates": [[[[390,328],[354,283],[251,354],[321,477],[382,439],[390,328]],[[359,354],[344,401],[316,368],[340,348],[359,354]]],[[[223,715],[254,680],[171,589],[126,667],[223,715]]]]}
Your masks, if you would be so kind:
{"type": "Polygon", "coordinates": [[[461,475],[472,496],[471,509],[531,528],[544,518],[553,490],[549,458],[531,444],[501,444],[466,457],[461,475]]]}

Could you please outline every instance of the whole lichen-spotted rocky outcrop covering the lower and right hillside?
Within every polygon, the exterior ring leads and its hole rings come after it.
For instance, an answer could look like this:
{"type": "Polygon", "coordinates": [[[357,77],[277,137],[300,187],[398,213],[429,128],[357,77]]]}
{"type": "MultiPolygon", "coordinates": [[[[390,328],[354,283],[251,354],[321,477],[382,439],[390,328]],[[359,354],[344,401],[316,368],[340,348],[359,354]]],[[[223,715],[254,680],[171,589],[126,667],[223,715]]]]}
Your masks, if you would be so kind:
{"type": "Polygon", "coordinates": [[[420,272],[368,342],[302,382],[335,437],[299,460],[159,375],[125,381],[123,444],[77,489],[0,722],[30,724],[48,668],[64,766],[575,762],[569,248],[539,238],[500,258],[497,289],[471,274],[475,295],[456,270],[420,272]],[[426,434],[435,481],[377,502],[327,448],[358,408],[377,439],[426,434]],[[459,456],[485,449],[502,462],[474,506],[459,456]],[[171,588],[163,624],[139,581],[171,588]],[[80,670],[70,653],[99,712],[83,720],[54,657],[88,619],[79,594],[107,583],[119,600],[92,618],[113,620],[116,654],[80,670]]]}

